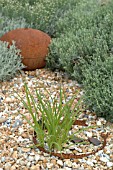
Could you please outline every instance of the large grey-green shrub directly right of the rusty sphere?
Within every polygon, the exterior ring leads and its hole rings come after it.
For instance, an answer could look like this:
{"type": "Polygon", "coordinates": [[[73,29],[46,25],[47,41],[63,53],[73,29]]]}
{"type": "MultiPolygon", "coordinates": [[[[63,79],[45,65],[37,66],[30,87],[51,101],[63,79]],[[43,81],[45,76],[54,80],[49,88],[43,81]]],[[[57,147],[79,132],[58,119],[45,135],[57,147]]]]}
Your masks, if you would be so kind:
{"type": "Polygon", "coordinates": [[[113,50],[113,2],[80,1],[57,22],[57,38],[50,44],[47,66],[63,69],[82,82],[84,65],[113,50]]]}

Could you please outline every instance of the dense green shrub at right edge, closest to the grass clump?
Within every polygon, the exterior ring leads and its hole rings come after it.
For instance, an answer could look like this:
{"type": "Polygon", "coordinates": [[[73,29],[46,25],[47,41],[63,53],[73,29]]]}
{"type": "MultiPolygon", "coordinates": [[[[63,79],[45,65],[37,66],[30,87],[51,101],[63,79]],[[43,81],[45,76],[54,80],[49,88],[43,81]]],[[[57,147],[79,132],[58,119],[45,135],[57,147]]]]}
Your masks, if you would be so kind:
{"type": "Polygon", "coordinates": [[[105,61],[95,59],[83,75],[86,107],[113,122],[113,54],[105,61]]]}

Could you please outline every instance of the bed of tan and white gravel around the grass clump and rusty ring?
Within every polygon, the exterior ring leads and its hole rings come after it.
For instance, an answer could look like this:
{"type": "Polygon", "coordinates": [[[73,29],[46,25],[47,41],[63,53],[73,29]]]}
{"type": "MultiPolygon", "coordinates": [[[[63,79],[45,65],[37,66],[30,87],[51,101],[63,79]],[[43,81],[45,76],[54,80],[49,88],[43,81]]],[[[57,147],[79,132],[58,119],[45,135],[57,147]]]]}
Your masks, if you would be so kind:
{"type": "MultiPolygon", "coordinates": [[[[69,80],[62,72],[51,72],[47,69],[23,72],[10,82],[0,83],[0,170],[112,170],[113,169],[113,124],[106,122],[103,118],[97,118],[94,113],[83,112],[79,119],[86,120],[87,125],[96,125],[96,128],[85,130],[78,134],[78,137],[87,139],[96,137],[102,142],[101,133],[109,133],[106,147],[88,157],[82,159],[59,159],[41,152],[38,148],[32,149],[33,129],[23,119],[24,114],[31,120],[28,111],[22,103],[14,96],[16,93],[25,97],[23,80],[28,83],[32,94],[39,88],[45,95],[47,92],[52,96],[59,93],[60,85],[64,88],[67,98],[80,90],[76,81],[69,80]]],[[[80,90],[78,98],[82,95],[80,90]]],[[[49,99],[49,96],[47,95],[49,99]]],[[[74,125],[72,131],[80,126],[74,125]]],[[[102,143],[101,143],[102,144],[102,143]]],[[[73,145],[65,150],[66,153],[81,154],[96,150],[101,146],[73,145]]],[[[66,147],[66,146],[64,146],[66,147]]]]}

